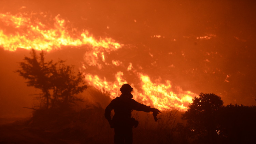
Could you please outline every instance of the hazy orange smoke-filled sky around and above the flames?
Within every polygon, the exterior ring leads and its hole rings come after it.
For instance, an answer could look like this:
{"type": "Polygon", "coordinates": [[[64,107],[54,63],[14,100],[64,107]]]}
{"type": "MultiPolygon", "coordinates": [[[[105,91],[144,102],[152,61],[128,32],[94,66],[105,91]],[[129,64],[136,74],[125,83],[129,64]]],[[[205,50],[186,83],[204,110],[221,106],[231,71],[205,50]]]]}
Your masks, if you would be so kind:
{"type": "MultiPolygon", "coordinates": [[[[171,81],[173,91],[180,88],[199,95],[214,93],[224,104],[255,105],[256,1],[118,1],[118,0],[1,0],[0,13],[27,14],[54,28],[54,18],[68,22],[70,33],[88,30],[96,40],[111,38],[122,48],[105,52],[98,66],[85,61],[90,46],[62,46],[47,53],[48,60],[58,58],[85,66],[85,73],[111,82],[122,71],[123,78],[141,89],[138,73],[153,82],[171,81]],[[122,62],[119,66],[113,61],[122,62]],[[106,64],[110,63],[110,64],[106,64]],[[132,63],[132,70],[127,67],[132,63]]],[[[0,18],[5,35],[24,34],[0,18]]],[[[40,37],[40,36],[36,36],[40,37]]],[[[76,37],[76,35],[74,35],[76,37]]],[[[33,88],[14,73],[17,62],[29,51],[3,50],[0,36],[0,117],[27,115],[33,104],[33,88]]]]}

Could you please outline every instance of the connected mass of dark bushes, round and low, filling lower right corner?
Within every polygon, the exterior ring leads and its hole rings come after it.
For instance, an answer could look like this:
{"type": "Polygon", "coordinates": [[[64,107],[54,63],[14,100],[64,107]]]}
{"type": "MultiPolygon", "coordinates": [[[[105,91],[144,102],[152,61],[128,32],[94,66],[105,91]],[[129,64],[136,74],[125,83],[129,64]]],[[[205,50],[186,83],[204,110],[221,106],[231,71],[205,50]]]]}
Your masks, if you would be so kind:
{"type": "Polygon", "coordinates": [[[182,119],[187,126],[180,126],[191,143],[246,143],[256,141],[256,106],[223,106],[221,97],[213,93],[200,93],[189,104],[182,119]],[[189,131],[186,131],[189,129],[189,131]]]}

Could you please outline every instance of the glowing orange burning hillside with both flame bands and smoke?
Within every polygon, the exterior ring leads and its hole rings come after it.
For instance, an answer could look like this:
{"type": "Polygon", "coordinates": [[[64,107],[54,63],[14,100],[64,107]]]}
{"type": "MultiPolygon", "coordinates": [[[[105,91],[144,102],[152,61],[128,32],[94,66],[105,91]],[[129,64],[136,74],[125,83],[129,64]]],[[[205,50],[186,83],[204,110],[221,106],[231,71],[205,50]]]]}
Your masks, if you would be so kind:
{"type": "Polygon", "coordinates": [[[115,98],[129,83],[134,99],[161,110],[185,111],[199,92],[213,92],[227,104],[254,103],[250,8],[186,1],[49,3],[2,1],[4,52],[34,48],[51,59],[75,59],[89,85],[115,98]],[[236,17],[235,8],[241,10],[236,17]]]}

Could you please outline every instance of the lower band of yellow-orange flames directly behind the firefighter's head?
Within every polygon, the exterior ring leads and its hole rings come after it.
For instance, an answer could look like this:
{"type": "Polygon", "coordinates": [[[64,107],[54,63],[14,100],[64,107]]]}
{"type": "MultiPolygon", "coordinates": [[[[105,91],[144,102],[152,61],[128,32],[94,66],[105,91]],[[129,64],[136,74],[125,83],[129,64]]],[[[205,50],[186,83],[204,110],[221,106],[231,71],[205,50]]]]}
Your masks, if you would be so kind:
{"type": "MultiPolygon", "coordinates": [[[[115,77],[115,82],[107,82],[100,79],[97,75],[87,74],[85,76],[86,81],[98,88],[98,89],[107,89],[110,91],[111,97],[114,99],[115,97],[120,95],[120,87],[127,83],[122,76],[123,72],[117,72],[115,77]]],[[[142,90],[138,90],[133,87],[133,98],[139,102],[142,102],[146,105],[151,105],[153,107],[157,107],[160,110],[165,110],[170,107],[174,109],[179,109],[181,111],[187,110],[188,103],[192,102],[192,98],[197,95],[190,91],[183,91],[181,88],[178,88],[178,93],[175,94],[172,91],[172,86],[170,81],[166,81],[165,84],[161,83],[153,83],[150,80],[150,77],[139,73],[139,78],[141,80],[141,88],[142,90]]]]}

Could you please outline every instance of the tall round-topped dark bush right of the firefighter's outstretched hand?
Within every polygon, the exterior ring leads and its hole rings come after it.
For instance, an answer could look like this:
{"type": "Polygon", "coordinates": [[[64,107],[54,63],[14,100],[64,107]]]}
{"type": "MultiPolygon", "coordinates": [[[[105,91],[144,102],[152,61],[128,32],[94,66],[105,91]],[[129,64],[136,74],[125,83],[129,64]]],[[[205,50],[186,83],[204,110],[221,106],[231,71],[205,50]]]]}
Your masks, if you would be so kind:
{"type": "Polygon", "coordinates": [[[217,111],[223,107],[221,97],[213,93],[200,93],[189,104],[182,119],[194,133],[197,143],[215,143],[218,136],[217,111]]]}

